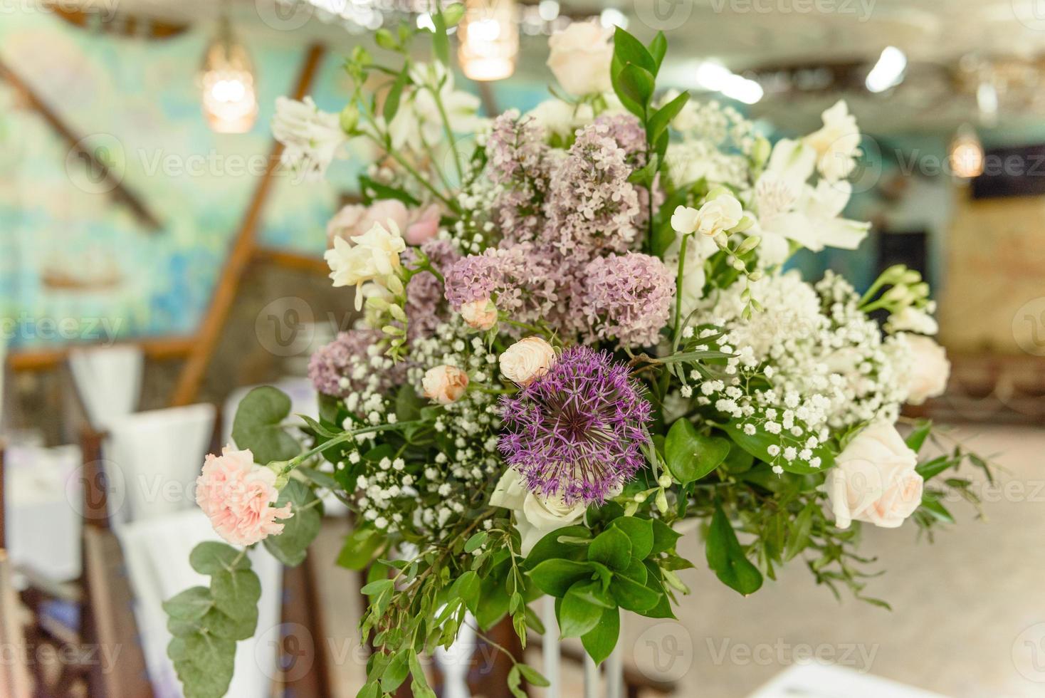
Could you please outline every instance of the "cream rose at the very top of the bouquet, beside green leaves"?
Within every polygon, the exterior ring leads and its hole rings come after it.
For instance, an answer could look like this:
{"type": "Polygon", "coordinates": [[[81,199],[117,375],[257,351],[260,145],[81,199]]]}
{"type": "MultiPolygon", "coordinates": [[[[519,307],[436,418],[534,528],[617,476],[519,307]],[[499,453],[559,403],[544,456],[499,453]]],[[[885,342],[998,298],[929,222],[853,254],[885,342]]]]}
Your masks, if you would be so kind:
{"type": "Polygon", "coordinates": [[[574,22],[548,40],[548,67],[562,89],[582,96],[609,92],[609,64],[613,60],[611,32],[595,22],[574,22]]]}

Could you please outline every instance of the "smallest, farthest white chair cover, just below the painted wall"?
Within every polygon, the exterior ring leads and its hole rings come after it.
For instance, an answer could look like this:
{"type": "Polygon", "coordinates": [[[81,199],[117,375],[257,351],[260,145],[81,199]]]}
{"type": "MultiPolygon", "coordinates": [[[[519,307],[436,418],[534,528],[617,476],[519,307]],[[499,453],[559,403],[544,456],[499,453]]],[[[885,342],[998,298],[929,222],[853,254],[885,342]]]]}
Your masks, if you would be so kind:
{"type": "Polygon", "coordinates": [[[134,345],[92,347],[69,352],[76,392],[91,426],[101,431],[138,406],[144,358],[134,345]]]}

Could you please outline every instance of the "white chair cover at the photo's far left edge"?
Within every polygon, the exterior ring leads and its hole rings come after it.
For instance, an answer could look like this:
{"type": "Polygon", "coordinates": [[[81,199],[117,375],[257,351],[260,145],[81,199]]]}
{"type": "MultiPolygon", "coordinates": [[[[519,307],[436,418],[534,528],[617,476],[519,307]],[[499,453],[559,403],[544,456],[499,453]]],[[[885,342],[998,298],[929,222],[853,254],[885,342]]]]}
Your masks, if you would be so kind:
{"type": "Polygon", "coordinates": [[[83,488],[76,446],[8,446],[4,452],[7,553],[48,579],[79,576],[83,488]]]}

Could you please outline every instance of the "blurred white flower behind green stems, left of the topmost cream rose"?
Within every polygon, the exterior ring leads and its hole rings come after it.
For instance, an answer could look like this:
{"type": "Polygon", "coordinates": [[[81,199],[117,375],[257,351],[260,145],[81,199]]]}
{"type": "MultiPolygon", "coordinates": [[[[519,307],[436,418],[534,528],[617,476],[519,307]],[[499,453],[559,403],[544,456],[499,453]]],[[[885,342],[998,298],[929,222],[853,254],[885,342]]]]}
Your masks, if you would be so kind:
{"type": "Polygon", "coordinates": [[[422,153],[426,147],[446,140],[434,91],[439,93],[450,131],[473,133],[482,126],[483,119],[478,116],[479,97],[455,90],[452,73],[446,72],[441,64],[417,64],[410,76],[415,87],[403,93],[399,110],[388,124],[392,147],[408,147],[422,153]]]}

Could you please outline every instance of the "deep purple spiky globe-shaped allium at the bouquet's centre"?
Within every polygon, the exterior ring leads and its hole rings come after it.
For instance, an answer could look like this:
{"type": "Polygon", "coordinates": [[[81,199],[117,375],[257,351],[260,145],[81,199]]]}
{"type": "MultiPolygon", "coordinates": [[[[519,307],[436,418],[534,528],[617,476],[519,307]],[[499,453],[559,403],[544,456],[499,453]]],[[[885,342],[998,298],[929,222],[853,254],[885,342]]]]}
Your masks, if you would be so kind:
{"type": "Polygon", "coordinates": [[[601,504],[643,467],[650,403],[607,351],[566,349],[502,406],[497,447],[533,492],[601,504]]]}

